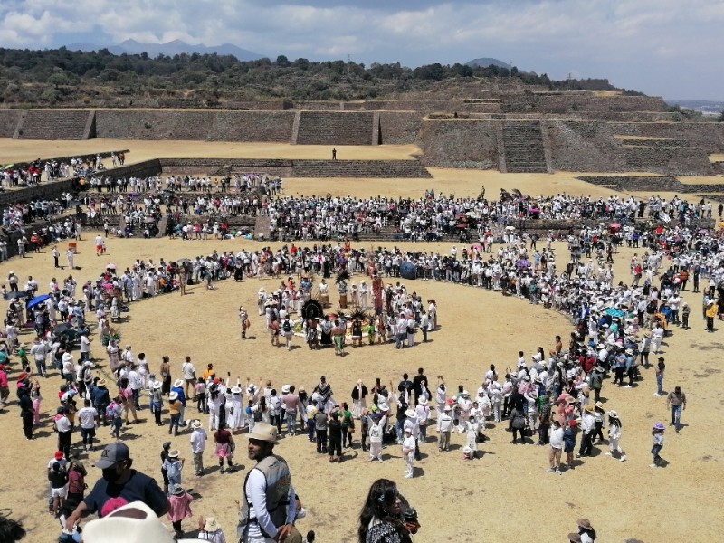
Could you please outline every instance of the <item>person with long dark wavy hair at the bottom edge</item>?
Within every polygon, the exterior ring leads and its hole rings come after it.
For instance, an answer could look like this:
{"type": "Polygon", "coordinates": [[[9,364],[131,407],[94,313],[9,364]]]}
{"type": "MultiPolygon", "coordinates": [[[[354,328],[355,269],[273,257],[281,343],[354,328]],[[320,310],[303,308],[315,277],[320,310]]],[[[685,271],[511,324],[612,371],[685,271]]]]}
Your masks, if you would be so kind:
{"type": "Polygon", "coordinates": [[[389,479],[377,479],[369,487],[367,500],[359,513],[359,543],[410,542],[402,520],[402,499],[397,485],[389,479]]]}

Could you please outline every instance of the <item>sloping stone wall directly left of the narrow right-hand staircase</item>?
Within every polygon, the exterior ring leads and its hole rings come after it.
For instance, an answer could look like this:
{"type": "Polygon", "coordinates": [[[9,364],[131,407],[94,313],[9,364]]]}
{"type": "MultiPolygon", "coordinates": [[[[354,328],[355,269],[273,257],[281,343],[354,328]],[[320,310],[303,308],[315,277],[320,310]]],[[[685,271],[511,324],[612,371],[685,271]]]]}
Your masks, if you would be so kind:
{"type": "Polygon", "coordinates": [[[494,120],[424,120],[419,145],[425,166],[499,168],[494,120]]]}

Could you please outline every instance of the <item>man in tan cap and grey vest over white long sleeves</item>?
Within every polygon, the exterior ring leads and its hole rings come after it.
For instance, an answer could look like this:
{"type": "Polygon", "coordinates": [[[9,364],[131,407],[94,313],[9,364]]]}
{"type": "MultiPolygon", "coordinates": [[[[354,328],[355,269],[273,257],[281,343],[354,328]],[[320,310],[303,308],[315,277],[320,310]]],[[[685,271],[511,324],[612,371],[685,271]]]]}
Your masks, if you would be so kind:
{"type": "Polygon", "coordinates": [[[274,454],[277,429],[266,423],[254,424],[249,433],[249,459],[257,463],[243,482],[239,537],[243,543],[301,543],[294,528],[297,498],[291,486],[287,462],[274,454]]]}

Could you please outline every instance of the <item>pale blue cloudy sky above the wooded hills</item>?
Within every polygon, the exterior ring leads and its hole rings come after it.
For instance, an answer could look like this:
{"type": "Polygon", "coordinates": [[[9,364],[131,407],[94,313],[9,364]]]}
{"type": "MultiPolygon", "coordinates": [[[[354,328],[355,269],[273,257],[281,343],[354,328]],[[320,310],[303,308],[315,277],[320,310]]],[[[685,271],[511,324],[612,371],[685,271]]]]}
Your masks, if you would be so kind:
{"type": "Polygon", "coordinates": [[[492,57],[561,80],[605,78],[680,100],[724,101],[721,0],[2,0],[0,47],[233,43],[271,60],[492,57]]]}

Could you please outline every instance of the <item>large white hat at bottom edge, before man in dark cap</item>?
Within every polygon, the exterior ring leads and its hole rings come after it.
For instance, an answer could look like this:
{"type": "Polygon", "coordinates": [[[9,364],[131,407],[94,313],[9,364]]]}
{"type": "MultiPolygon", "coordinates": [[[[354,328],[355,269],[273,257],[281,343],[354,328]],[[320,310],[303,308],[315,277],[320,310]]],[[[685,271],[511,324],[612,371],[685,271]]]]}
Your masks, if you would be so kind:
{"type": "Polygon", "coordinates": [[[85,543],[173,543],[174,538],[156,513],[142,501],[133,501],[83,528],[85,543]],[[132,516],[131,516],[132,515],[132,516]],[[140,518],[139,518],[140,517],[140,518]]]}

